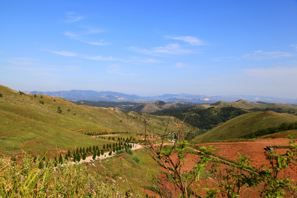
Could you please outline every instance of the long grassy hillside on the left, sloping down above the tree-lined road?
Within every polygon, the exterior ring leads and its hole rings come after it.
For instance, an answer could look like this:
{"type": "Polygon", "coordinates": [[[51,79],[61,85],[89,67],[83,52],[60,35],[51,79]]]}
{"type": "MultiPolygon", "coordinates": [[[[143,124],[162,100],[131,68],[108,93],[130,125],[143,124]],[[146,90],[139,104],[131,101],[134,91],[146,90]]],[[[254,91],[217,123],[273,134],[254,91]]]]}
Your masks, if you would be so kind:
{"type": "MultiPolygon", "coordinates": [[[[47,149],[68,150],[106,143],[107,140],[84,135],[86,130],[144,132],[141,120],[144,117],[133,118],[113,108],[76,105],[53,96],[20,95],[3,85],[0,85],[0,93],[0,153],[5,155],[16,155],[22,150],[41,153],[47,149]],[[57,112],[59,107],[61,113],[57,112]]],[[[163,134],[166,126],[159,123],[167,120],[149,116],[147,130],[163,134]]],[[[168,131],[175,130],[171,122],[168,131]]]]}

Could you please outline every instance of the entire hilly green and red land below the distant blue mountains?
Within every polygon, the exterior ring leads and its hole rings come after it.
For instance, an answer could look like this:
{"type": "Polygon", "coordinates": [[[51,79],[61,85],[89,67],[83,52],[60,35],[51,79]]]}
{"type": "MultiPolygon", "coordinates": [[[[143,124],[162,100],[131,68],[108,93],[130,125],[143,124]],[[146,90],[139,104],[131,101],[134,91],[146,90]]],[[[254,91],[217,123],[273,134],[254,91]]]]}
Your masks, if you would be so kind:
{"type": "Polygon", "coordinates": [[[296,196],[295,105],[0,94],[0,197],[296,196]]]}

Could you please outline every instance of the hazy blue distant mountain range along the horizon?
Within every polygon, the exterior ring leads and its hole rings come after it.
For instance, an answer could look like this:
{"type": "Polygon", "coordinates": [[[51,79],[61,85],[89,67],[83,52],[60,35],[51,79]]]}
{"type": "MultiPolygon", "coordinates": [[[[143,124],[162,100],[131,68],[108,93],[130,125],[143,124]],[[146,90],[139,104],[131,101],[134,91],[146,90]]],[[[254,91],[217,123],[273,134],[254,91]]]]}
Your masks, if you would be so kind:
{"type": "Polygon", "coordinates": [[[128,95],[112,91],[92,91],[92,90],[71,90],[71,91],[24,91],[26,94],[42,94],[48,96],[62,97],[67,100],[88,100],[88,101],[106,101],[106,102],[154,102],[161,100],[164,102],[184,102],[190,104],[214,103],[218,101],[234,102],[244,99],[249,102],[273,102],[285,104],[297,104],[297,99],[285,99],[269,96],[254,95],[229,95],[229,96],[205,96],[193,94],[164,94],[162,96],[137,96],[128,95]]]}

